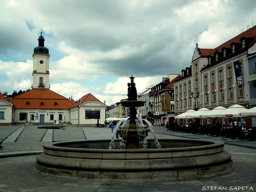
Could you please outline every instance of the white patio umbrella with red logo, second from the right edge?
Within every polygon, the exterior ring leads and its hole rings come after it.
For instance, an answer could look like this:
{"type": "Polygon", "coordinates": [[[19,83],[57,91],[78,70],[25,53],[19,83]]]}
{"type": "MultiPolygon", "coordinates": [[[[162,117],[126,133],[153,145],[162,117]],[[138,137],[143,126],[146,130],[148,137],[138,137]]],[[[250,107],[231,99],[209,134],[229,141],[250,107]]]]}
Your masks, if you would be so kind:
{"type": "Polygon", "coordinates": [[[248,109],[241,105],[232,105],[218,115],[220,118],[243,117],[241,114],[248,109]]]}

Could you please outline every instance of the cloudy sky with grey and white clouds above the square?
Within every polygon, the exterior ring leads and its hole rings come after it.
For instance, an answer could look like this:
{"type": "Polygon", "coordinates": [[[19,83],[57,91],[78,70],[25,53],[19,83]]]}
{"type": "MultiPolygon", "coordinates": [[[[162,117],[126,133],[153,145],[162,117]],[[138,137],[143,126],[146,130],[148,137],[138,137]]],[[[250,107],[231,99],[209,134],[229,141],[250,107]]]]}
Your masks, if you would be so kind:
{"type": "Polygon", "coordinates": [[[107,105],[190,66],[195,44],[215,48],[256,23],[256,0],[1,0],[0,91],[31,89],[42,30],[51,90],[107,105]],[[254,21],[255,20],[255,21],[254,21]]]}

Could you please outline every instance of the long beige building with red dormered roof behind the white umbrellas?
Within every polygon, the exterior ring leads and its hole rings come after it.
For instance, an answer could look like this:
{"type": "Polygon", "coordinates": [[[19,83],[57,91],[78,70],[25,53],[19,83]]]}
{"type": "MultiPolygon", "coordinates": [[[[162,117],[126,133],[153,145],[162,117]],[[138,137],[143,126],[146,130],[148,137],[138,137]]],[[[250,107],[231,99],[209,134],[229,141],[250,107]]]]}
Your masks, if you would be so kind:
{"type": "Polygon", "coordinates": [[[255,66],[256,26],[214,49],[202,49],[196,44],[191,70],[174,82],[175,113],[234,104],[255,106],[255,66]]]}

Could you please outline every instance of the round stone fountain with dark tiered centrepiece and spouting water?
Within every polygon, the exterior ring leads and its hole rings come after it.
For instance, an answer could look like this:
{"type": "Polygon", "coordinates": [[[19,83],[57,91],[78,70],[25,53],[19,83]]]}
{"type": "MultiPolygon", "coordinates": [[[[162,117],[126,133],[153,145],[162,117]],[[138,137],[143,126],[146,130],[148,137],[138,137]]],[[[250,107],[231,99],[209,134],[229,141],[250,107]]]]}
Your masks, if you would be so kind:
{"type": "Polygon", "coordinates": [[[136,107],[144,103],[137,100],[131,75],[128,100],[122,102],[122,106],[129,107],[130,116],[118,123],[112,140],[45,144],[44,152],[36,157],[34,171],[52,177],[146,183],[208,178],[234,170],[223,142],[158,140],[151,123],[136,117],[136,107]],[[149,131],[154,139],[146,138],[149,131]]]}

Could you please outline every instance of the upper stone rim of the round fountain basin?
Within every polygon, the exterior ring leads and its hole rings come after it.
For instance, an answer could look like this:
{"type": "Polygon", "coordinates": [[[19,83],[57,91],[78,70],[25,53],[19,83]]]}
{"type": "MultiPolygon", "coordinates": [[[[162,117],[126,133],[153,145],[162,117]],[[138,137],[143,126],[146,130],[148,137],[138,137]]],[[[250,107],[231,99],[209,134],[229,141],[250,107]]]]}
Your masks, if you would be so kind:
{"type": "MultiPolygon", "coordinates": [[[[148,139],[153,140],[153,139],[148,139]]],[[[72,148],[72,147],[62,147],[60,145],[65,145],[68,143],[101,143],[110,142],[111,140],[73,140],[73,141],[58,141],[54,143],[46,143],[43,145],[44,149],[57,150],[57,151],[78,151],[78,152],[91,152],[91,153],[149,153],[149,152],[178,152],[178,151],[188,151],[188,150],[205,150],[205,149],[215,149],[224,146],[224,142],[221,141],[202,141],[196,139],[159,139],[161,141],[187,141],[187,142],[198,142],[204,143],[205,145],[200,146],[188,146],[188,147],[173,147],[173,148],[160,148],[160,149],[96,149],[96,148],[72,148]],[[59,145],[59,146],[58,146],[59,145]]]]}

